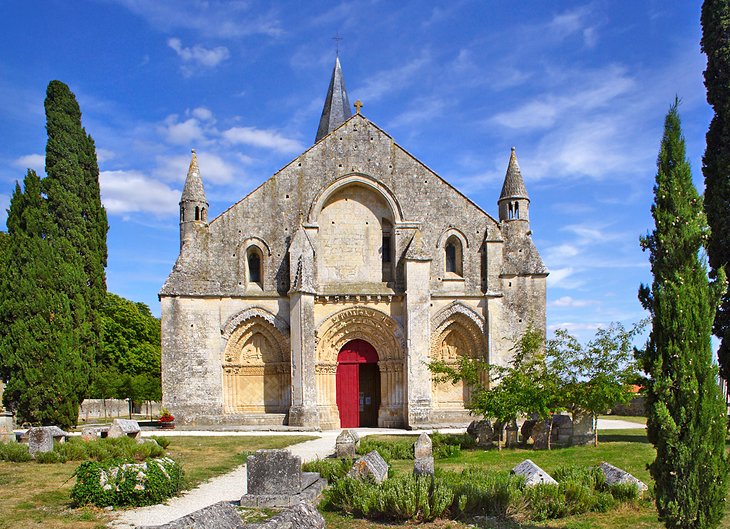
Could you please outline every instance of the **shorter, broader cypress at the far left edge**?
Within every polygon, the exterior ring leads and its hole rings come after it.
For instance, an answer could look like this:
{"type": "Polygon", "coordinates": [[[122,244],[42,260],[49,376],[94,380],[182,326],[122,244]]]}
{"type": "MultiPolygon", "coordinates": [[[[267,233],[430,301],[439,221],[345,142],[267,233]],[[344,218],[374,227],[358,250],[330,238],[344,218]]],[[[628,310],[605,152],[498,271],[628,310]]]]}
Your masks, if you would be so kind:
{"type": "Polygon", "coordinates": [[[55,232],[34,171],[28,171],[24,190],[16,184],[7,224],[8,266],[0,277],[3,401],[20,423],[68,428],[76,423],[90,372],[68,295],[81,261],[62,257],[73,252],[55,232]]]}

